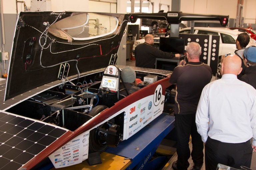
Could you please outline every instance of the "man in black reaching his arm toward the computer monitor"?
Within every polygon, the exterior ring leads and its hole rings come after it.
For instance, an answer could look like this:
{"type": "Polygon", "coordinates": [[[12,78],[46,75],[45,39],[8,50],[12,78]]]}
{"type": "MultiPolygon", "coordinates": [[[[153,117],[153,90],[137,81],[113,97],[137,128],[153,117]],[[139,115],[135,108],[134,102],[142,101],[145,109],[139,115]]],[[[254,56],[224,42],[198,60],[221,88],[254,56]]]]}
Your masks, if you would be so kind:
{"type": "Polygon", "coordinates": [[[170,59],[180,57],[180,54],[163,52],[154,46],[154,37],[152,34],[145,36],[145,43],[135,47],[135,66],[143,68],[155,68],[156,58],[170,59]]]}

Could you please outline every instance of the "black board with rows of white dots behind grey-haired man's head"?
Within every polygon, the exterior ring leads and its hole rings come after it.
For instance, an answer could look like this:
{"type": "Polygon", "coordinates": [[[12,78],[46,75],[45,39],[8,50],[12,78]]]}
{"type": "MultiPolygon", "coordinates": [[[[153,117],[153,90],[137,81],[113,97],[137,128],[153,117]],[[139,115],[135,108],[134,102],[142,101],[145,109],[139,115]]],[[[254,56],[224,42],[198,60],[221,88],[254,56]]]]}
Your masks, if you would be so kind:
{"type": "Polygon", "coordinates": [[[218,35],[194,35],[194,34],[180,34],[180,38],[185,39],[185,49],[190,42],[197,42],[201,46],[202,54],[200,61],[209,65],[212,73],[217,73],[218,59],[219,59],[219,44],[220,36],[218,35]]]}

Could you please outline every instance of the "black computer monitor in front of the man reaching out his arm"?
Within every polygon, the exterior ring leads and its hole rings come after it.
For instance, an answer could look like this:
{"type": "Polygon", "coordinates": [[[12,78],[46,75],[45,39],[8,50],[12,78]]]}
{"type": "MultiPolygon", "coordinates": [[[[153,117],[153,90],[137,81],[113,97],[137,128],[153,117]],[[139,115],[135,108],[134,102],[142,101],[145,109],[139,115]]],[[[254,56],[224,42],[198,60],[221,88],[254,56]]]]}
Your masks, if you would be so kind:
{"type": "Polygon", "coordinates": [[[185,39],[177,37],[160,37],[159,49],[174,54],[184,54],[185,39]]]}

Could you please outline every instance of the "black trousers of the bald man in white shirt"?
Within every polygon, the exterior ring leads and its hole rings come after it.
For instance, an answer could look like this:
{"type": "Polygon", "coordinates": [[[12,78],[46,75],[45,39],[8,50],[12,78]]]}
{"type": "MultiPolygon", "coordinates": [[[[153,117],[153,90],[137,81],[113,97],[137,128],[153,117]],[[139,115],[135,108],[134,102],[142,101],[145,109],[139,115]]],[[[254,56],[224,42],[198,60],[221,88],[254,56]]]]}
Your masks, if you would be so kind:
{"type": "Polygon", "coordinates": [[[240,169],[251,167],[252,145],[243,143],[224,143],[208,137],[205,143],[205,169],[216,170],[218,163],[240,169]]]}

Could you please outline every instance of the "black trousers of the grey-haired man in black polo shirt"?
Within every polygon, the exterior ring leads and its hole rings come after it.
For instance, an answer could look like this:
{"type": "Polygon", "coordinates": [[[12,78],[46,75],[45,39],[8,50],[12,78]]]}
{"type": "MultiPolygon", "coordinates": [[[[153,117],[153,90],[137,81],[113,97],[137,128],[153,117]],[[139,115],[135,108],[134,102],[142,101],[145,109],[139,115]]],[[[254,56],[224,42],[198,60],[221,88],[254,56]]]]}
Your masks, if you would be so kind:
{"type": "Polygon", "coordinates": [[[189,138],[192,137],[192,160],[195,166],[201,166],[204,160],[204,144],[196,128],[196,113],[175,114],[175,129],[177,133],[177,167],[180,170],[187,170],[190,157],[189,138]]]}

